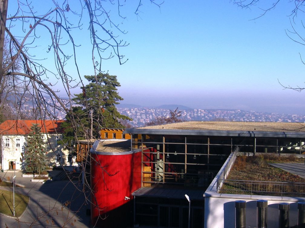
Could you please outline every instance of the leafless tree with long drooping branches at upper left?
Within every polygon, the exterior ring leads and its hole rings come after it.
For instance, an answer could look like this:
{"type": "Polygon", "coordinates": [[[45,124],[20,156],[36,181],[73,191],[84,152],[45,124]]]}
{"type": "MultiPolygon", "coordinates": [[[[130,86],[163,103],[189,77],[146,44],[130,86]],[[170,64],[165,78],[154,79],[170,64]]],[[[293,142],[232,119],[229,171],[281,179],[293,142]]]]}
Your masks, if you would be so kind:
{"type": "MultiPolygon", "coordinates": [[[[158,0],[145,2],[159,8],[163,3],[158,0]]],[[[0,1],[0,112],[8,105],[14,109],[16,119],[30,115],[35,119],[52,120],[58,119],[59,112],[72,113],[74,138],[79,145],[77,129],[81,126],[77,123],[81,121],[75,121],[74,118],[78,117],[73,115],[72,109],[75,106],[73,89],[84,87],[77,48],[82,42],[91,42],[91,56],[88,58],[92,60],[95,77],[99,72],[105,72],[104,60],[117,58],[119,64],[124,64],[128,59],[121,53],[121,48],[128,43],[121,38],[126,34],[122,27],[126,19],[121,13],[123,3],[120,0],[0,1]],[[41,7],[42,4],[45,6],[41,7]],[[75,36],[77,31],[86,29],[86,39],[75,36]],[[42,50],[47,57],[38,54],[42,50]],[[71,66],[74,66],[76,75],[71,73],[71,66]],[[58,90],[57,83],[61,84],[66,95],[59,96],[63,91],[58,90]],[[50,97],[51,102],[46,97],[50,97]],[[27,102],[27,110],[22,110],[24,102],[27,102]],[[16,104],[15,107],[12,103],[16,104]]],[[[135,5],[137,18],[140,18],[142,4],[144,1],[138,0],[135,5]]],[[[100,112],[103,118],[102,110],[100,112]]],[[[71,151],[77,148],[66,146],[71,151]]],[[[87,170],[86,161],[81,163],[83,170],[87,170]]],[[[102,165],[101,168],[105,169],[102,165]]],[[[90,191],[86,178],[84,186],[77,189],[90,191]]]]}

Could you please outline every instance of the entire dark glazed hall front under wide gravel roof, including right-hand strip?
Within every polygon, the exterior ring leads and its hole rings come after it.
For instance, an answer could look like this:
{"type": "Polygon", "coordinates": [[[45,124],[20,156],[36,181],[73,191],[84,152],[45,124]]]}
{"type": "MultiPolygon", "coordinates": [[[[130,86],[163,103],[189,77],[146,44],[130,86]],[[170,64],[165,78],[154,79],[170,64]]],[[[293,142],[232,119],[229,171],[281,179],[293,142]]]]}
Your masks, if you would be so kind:
{"type": "Polygon", "coordinates": [[[142,187],[206,189],[235,147],[245,153],[303,154],[304,138],[133,134],[142,148],[142,187]]]}

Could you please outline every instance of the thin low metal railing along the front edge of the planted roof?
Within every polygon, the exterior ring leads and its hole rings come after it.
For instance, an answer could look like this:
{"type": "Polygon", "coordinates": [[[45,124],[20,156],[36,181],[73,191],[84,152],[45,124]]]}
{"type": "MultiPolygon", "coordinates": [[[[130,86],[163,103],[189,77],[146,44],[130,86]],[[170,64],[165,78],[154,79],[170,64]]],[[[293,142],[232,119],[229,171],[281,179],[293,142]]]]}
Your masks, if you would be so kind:
{"type": "Polygon", "coordinates": [[[250,195],[262,192],[281,196],[283,194],[302,195],[305,194],[305,183],[217,179],[217,192],[239,192],[239,194],[250,192],[250,195]]]}

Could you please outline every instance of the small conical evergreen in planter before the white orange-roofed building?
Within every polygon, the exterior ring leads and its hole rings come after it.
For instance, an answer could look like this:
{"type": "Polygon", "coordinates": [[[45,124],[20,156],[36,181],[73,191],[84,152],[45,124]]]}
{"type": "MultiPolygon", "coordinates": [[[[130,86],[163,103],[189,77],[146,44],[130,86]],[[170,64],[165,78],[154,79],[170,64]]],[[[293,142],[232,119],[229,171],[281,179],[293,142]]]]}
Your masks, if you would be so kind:
{"type": "Polygon", "coordinates": [[[25,170],[29,173],[38,173],[40,175],[47,168],[42,136],[40,127],[37,124],[33,124],[31,132],[26,139],[27,149],[24,156],[25,170]]]}

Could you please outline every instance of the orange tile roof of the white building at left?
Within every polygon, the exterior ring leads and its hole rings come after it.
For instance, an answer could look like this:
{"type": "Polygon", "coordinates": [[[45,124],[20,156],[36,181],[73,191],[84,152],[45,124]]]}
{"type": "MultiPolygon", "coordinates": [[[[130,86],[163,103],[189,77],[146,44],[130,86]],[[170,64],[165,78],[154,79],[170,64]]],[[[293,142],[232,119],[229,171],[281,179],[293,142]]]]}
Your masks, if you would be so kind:
{"type": "Polygon", "coordinates": [[[62,133],[61,123],[65,120],[6,120],[0,124],[1,135],[27,135],[33,124],[41,127],[41,133],[62,133]]]}

